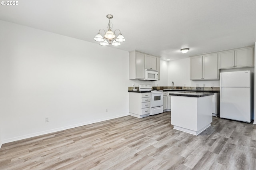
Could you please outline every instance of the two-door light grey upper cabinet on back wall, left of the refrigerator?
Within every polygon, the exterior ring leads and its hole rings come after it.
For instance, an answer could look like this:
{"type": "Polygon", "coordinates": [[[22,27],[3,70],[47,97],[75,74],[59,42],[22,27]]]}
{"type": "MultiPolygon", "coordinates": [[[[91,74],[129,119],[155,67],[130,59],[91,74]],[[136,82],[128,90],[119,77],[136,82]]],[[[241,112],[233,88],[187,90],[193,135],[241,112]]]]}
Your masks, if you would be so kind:
{"type": "Polygon", "coordinates": [[[218,54],[190,57],[190,80],[218,79],[218,54]]]}

